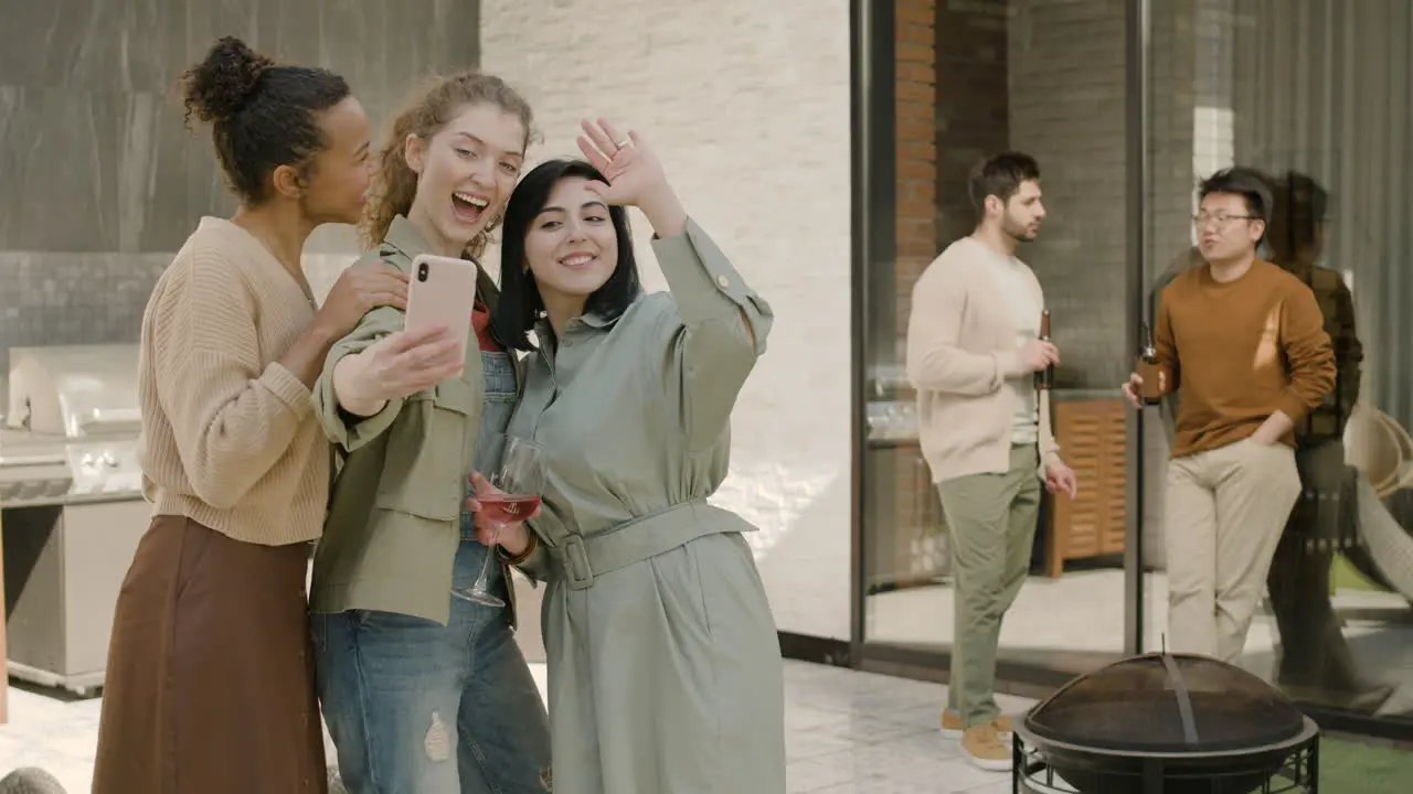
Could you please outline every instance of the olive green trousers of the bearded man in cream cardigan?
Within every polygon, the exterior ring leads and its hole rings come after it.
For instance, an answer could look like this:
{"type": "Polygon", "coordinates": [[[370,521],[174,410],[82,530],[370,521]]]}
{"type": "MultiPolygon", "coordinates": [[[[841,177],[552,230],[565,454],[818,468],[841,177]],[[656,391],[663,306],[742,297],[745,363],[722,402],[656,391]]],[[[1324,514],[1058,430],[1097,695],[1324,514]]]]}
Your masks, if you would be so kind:
{"type": "Polygon", "coordinates": [[[1000,619],[1030,571],[1040,511],[1039,451],[1010,448],[1003,475],[968,475],[937,485],[952,547],[955,637],[947,708],[962,725],[1000,715],[996,705],[996,647],[1000,619]]]}

